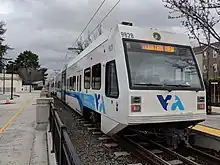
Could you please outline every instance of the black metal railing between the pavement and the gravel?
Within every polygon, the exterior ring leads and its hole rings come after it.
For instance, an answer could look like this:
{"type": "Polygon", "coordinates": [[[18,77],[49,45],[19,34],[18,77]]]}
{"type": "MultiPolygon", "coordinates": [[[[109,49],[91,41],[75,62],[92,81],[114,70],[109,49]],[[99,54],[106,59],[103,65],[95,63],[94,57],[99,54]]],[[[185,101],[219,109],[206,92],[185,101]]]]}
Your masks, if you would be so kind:
{"type": "Polygon", "coordinates": [[[67,133],[67,127],[62,123],[56,109],[50,104],[49,115],[50,129],[52,134],[52,153],[55,153],[58,165],[82,165],[76,150],[67,133]]]}

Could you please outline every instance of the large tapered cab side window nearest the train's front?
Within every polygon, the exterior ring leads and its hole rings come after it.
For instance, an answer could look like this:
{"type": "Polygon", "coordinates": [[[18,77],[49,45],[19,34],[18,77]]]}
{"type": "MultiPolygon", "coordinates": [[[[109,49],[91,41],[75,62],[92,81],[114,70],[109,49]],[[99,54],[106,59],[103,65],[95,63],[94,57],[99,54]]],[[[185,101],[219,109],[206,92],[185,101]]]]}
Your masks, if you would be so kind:
{"type": "Polygon", "coordinates": [[[105,73],[105,95],[107,97],[117,98],[119,90],[115,60],[106,63],[105,73]]]}

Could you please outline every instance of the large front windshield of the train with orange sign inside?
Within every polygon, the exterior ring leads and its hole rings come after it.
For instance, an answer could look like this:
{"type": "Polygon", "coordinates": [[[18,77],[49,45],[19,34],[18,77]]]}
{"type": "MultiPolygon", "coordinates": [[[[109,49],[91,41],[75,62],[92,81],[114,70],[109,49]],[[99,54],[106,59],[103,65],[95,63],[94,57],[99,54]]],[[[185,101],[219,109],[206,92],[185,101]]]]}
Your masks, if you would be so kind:
{"type": "Polygon", "coordinates": [[[125,52],[131,89],[203,89],[190,47],[125,41],[125,52]]]}

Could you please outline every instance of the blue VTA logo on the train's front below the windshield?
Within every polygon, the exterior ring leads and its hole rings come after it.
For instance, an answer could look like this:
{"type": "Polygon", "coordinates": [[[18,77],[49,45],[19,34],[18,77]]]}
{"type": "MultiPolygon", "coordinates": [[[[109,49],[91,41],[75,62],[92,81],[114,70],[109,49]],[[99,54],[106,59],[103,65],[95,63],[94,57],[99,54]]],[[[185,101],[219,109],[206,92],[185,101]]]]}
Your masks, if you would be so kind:
{"type": "Polygon", "coordinates": [[[181,111],[184,110],[184,106],[180,98],[176,95],[175,96],[167,95],[166,98],[164,98],[162,95],[157,95],[157,98],[160,101],[160,104],[162,105],[163,109],[166,111],[168,111],[169,109],[175,111],[177,108],[179,108],[179,110],[181,111]]]}

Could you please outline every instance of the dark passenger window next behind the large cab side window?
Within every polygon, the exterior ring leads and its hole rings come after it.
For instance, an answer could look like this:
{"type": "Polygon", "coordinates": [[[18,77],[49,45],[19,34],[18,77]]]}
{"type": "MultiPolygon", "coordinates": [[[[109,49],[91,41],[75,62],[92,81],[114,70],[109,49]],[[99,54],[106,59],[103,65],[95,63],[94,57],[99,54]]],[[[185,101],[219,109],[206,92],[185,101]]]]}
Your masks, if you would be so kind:
{"type": "Polygon", "coordinates": [[[92,67],[92,89],[99,90],[101,88],[101,64],[92,67]]]}

